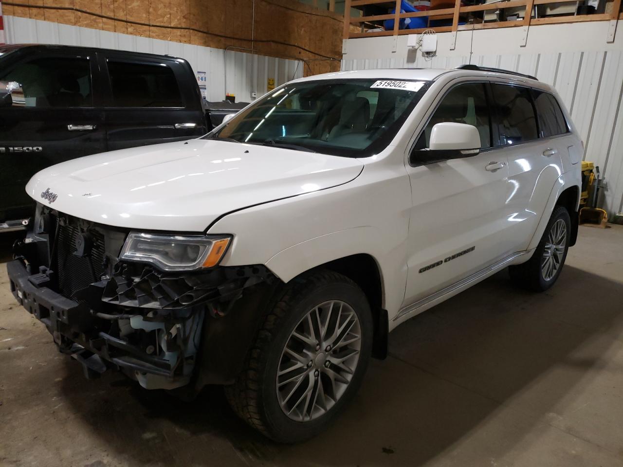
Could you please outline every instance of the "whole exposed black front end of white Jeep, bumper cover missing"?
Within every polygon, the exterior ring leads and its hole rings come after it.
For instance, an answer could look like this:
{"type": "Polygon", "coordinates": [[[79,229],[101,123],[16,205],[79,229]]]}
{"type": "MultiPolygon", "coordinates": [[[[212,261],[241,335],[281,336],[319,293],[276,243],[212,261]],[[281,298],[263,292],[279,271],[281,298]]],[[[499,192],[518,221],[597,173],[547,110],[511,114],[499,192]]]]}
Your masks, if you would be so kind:
{"type": "Polygon", "coordinates": [[[146,389],[194,393],[232,382],[275,283],[267,268],[163,272],[118,260],[124,232],[56,212],[37,217],[45,222],[7,263],[11,291],[87,377],[117,369],[146,389]]]}

